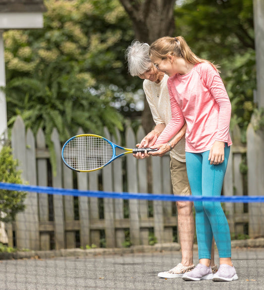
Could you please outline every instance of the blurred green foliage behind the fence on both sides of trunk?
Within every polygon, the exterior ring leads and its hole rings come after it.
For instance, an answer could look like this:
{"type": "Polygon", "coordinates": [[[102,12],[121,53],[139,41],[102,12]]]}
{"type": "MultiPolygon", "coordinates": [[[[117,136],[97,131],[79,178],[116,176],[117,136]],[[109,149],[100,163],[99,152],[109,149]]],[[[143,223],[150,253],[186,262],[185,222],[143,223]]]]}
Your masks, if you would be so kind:
{"type": "MultiPolygon", "coordinates": [[[[232,123],[246,130],[256,105],[252,0],[185,0],[175,5],[175,35],[221,66],[232,123]]],[[[86,133],[139,120],[142,80],[127,73],[124,50],[133,24],[118,0],[45,0],[44,28],[4,33],[8,125],[20,114],[50,147],[86,133]]],[[[138,122],[138,121],[137,121],[138,122]]]]}

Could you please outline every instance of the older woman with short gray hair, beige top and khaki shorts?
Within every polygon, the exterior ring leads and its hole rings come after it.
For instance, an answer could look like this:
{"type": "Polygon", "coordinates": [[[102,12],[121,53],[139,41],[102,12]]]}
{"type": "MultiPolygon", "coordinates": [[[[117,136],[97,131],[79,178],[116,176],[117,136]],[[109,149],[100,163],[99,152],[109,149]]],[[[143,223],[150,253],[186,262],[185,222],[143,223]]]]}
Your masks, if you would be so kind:
{"type": "MultiPolygon", "coordinates": [[[[170,98],[167,88],[168,76],[158,70],[149,58],[149,45],[134,41],[126,49],[125,55],[128,70],[132,76],[144,79],[143,89],[146,94],[155,128],[138,144],[139,147],[150,147],[155,144],[158,136],[171,120],[170,98]]],[[[170,151],[170,172],[175,195],[191,195],[185,163],[185,131],[184,125],[179,132],[167,143],[160,145],[159,156],[170,151]]],[[[147,157],[148,154],[137,153],[138,159],[147,157]]],[[[158,273],[160,278],[182,277],[184,273],[194,269],[193,242],[194,242],[194,217],[193,202],[177,201],[178,232],[182,251],[181,263],[169,271],[158,273]]],[[[214,249],[212,248],[212,256],[214,249]]],[[[212,271],[217,271],[214,260],[211,260],[212,271]]]]}

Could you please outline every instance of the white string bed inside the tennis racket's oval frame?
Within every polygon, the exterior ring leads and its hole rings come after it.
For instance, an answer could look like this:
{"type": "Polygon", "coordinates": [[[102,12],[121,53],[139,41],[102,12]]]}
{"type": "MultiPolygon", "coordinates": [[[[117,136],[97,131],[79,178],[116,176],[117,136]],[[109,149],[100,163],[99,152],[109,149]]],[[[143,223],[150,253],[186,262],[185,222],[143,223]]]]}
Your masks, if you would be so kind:
{"type": "Polygon", "coordinates": [[[103,138],[80,136],[69,141],[63,150],[65,162],[76,170],[94,170],[113,156],[112,146],[103,138]]]}

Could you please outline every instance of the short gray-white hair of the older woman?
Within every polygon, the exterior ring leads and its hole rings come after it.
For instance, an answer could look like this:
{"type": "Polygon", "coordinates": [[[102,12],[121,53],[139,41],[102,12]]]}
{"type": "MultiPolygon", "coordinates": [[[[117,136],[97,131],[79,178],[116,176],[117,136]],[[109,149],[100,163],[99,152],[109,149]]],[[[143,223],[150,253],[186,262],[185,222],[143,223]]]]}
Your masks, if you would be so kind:
{"type": "Polygon", "coordinates": [[[128,72],[131,76],[140,76],[151,67],[149,57],[150,46],[147,43],[141,43],[134,40],[125,51],[125,57],[128,62],[128,72]]]}

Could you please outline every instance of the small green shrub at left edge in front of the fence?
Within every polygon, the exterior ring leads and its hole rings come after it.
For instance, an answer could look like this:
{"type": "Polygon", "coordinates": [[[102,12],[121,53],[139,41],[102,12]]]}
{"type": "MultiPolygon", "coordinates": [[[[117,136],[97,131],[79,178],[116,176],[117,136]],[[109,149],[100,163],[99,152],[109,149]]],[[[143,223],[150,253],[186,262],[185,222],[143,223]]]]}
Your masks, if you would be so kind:
{"type": "MultiPolygon", "coordinates": [[[[21,171],[17,168],[18,161],[13,159],[10,146],[3,146],[0,151],[0,181],[22,184],[21,171]]],[[[0,190],[0,220],[9,222],[14,220],[18,212],[24,210],[25,192],[0,190]]]]}

